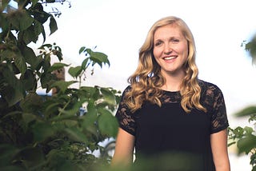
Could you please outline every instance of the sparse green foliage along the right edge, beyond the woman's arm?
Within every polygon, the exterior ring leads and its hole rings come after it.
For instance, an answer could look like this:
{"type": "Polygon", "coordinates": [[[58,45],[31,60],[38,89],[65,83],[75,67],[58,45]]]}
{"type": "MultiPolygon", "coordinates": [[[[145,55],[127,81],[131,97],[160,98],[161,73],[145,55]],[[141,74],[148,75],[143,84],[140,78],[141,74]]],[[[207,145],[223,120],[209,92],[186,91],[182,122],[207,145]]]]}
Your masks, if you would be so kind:
{"type": "MultiPolygon", "coordinates": [[[[250,53],[252,62],[256,62],[256,34],[250,42],[243,42],[242,46],[245,47],[250,53]]],[[[252,165],[252,171],[256,171],[256,106],[247,106],[245,109],[242,109],[238,113],[234,113],[236,117],[249,117],[249,123],[254,125],[245,126],[242,128],[238,126],[234,129],[229,128],[229,139],[230,144],[236,144],[238,147],[238,154],[246,153],[250,155],[250,165],[252,165]]]]}

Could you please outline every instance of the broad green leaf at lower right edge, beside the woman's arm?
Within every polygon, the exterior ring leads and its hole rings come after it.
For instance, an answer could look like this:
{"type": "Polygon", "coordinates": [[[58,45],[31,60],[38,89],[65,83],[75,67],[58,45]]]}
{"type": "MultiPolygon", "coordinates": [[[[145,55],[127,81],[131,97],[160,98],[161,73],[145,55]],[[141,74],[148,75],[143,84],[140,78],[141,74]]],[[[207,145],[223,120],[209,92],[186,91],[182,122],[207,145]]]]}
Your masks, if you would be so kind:
{"type": "Polygon", "coordinates": [[[256,149],[256,137],[254,135],[248,135],[238,140],[239,153],[250,153],[252,149],[256,149]]]}

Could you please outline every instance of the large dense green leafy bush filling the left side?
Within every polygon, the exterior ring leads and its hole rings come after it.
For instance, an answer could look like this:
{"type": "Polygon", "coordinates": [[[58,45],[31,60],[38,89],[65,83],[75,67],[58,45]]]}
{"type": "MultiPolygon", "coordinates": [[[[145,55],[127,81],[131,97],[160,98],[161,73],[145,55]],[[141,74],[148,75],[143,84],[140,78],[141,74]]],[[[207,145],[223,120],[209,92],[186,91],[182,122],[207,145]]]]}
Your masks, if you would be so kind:
{"type": "MultiPolygon", "coordinates": [[[[29,46],[38,37],[46,40],[58,30],[54,17],[43,4],[55,1],[16,0],[17,10],[6,11],[10,0],[2,1],[0,14],[0,168],[1,170],[94,170],[108,165],[110,158],[95,157],[98,143],[115,137],[118,122],[112,115],[120,92],[97,85],[81,86],[88,67],[110,65],[106,54],[82,47],[82,66],[70,67],[74,81],[58,80],[53,73],[62,63],[62,49],[44,44],[36,55],[29,46]],[[52,65],[51,58],[59,62],[52,65]],[[71,88],[74,83],[78,88],[71,88]],[[41,87],[53,96],[39,95],[41,87]]],[[[65,2],[58,1],[58,2],[65,2]]],[[[53,15],[54,14],[54,15],[53,15]]]]}

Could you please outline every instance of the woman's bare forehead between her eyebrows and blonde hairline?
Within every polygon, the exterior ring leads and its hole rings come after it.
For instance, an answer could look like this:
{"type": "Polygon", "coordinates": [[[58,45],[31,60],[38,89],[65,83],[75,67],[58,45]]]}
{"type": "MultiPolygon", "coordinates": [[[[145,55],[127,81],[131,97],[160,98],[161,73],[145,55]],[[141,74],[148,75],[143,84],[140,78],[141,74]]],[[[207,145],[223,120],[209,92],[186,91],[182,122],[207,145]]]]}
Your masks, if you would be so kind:
{"type": "Polygon", "coordinates": [[[179,26],[174,24],[169,24],[166,26],[161,26],[154,32],[154,40],[170,37],[184,37],[182,35],[182,30],[179,26]]]}

